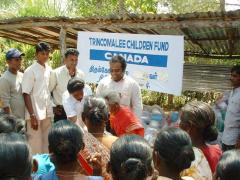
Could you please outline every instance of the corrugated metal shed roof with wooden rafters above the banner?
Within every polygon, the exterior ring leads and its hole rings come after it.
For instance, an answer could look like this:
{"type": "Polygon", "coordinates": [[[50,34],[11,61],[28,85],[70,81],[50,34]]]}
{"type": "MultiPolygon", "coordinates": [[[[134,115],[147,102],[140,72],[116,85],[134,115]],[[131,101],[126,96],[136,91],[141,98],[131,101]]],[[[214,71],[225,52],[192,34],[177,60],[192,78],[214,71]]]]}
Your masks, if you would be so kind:
{"type": "Polygon", "coordinates": [[[61,27],[67,47],[76,47],[78,31],[184,35],[185,55],[240,58],[240,10],[188,14],[127,14],[106,17],[21,17],[0,20],[0,36],[59,48],[61,27]]]}

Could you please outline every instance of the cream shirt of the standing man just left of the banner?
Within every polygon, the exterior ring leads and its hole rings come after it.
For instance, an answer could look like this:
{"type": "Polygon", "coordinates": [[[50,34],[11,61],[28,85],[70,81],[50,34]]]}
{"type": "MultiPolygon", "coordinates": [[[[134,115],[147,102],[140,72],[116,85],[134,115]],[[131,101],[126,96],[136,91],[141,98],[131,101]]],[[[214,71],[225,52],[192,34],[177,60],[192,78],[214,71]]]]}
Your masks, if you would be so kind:
{"type": "MultiPolygon", "coordinates": [[[[84,78],[84,73],[77,69],[75,77],[84,78]]],[[[67,90],[68,81],[71,79],[67,67],[61,66],[54,69],[50,77],[50,91],[53,92],[53,103],[62,105],[62,95],[67,90]]]]}

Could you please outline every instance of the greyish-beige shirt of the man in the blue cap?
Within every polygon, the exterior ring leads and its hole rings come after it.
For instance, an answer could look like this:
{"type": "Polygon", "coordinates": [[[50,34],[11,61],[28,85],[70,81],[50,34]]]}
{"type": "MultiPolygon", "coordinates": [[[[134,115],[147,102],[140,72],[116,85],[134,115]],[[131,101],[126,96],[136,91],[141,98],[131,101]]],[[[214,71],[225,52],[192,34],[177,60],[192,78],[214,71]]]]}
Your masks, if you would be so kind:
{"type": "Polygon", "coordinates": [[[0,99],[3,107],[9,107],[11,113],[19,118],[25,118],[25,104],[22,95],[23,73],[5,71],[0,78],[0,99]]]}

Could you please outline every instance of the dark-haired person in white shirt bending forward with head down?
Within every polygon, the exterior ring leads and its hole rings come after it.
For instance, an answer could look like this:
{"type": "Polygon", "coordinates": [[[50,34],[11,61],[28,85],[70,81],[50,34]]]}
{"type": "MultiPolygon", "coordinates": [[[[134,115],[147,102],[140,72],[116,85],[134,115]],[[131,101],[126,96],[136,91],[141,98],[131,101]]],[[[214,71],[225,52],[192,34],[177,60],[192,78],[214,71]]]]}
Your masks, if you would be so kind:
{"type": "Polygon", "coordinates": [[[67,91],[63,94],[62,104],[67,114],[67,118],[86,129],[82,122],[82,112],[84,100],[87,96],[92,95],[91,88],[78,77],[69,80],[67,91]]]}

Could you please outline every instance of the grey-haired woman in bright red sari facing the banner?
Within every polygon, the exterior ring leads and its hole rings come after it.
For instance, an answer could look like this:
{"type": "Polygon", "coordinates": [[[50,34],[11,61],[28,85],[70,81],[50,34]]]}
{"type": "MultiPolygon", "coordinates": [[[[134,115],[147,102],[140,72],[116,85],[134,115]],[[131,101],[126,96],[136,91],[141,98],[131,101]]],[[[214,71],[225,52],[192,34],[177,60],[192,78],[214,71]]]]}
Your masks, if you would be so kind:
{"type": "Polygon", "coordinates": [[[128,107],[120,105],[119,93],[109,92],[105,99],[110,111],[110,126],[117,136],[124,134],[144,136],[144,128],[137,116],[128,107]]]}

